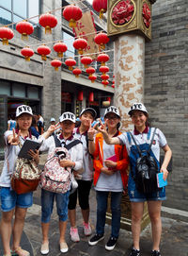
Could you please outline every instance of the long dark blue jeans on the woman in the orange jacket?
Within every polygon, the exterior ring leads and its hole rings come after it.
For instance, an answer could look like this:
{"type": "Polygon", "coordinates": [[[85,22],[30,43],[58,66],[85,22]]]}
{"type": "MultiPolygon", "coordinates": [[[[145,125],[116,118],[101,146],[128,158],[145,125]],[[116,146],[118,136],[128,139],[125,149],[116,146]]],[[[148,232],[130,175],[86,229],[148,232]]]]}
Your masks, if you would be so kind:
{"type": "MultiPolygon", "coordinates": [[[[105,215],[107,210],[108,191],[96,191],[97,198],[97,224],[96,232],[104,233],[105,215]]],[[[111,192],[112,230],[111,236],[118,238],[120,229],[120,202],[122,192],[111,192]]]]}

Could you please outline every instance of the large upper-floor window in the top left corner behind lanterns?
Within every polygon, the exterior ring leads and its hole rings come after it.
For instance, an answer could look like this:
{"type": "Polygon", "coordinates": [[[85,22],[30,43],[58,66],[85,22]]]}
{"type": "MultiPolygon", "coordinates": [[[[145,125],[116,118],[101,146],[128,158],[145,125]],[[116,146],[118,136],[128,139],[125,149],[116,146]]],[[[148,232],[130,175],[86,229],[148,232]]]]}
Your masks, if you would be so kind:
{"type": "MultiPolygon", "coordinates": [[[[41,0],[1,0],[0,23],[8,25],[39,15],[40,4],[41,0]]],[[[31,36],[40,39],[39,17],[31,19],[29,22],[34,26],[34,33],[31,36]]],[[[15,27],[16,25],[13,26],[14,29],[15,27]]]]}

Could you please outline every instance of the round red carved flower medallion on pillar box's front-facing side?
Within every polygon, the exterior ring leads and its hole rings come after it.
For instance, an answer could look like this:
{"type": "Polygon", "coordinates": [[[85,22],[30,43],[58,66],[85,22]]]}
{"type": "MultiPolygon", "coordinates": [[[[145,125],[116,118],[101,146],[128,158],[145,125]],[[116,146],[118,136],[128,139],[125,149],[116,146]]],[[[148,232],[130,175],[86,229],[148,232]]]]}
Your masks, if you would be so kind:
{"type": "Polygon", "coordinates": [[[133,17],[133,3],[131,0],[120,1],[112,10],[112,21],[118,26],[128,23],[133,17]]]}

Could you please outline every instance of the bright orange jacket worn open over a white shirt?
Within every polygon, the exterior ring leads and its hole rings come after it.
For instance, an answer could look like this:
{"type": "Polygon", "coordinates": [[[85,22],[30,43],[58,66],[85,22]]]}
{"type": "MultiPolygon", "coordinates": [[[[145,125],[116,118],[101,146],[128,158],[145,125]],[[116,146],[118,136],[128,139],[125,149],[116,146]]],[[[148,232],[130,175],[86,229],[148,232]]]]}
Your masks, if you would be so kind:
{"type": "MultiPolygon", "coordinates": [[[[121,134],[120,131],[118,131],[118,135],[121,134]]],[[[102,162],[103,162],[103,137],[102,133],[98,133],[96,135],[96,140],[95,140],[95,152],[93,154],[94,161],[94,185],[96,186],[97,181],[100,177],[101,174],[101,169],[103,167],[102,162]]],[[[128,182],[128,175],[127,175],[127,167],[129,165],[129,158],[127,154],[127,149],[125,145],[114,145],[115,146],[115,153],[117,155],[117,169],[120,171],[121,174],[121,179],[123,183],[123,188],[127,187],[127,182],[128,182]]]]}

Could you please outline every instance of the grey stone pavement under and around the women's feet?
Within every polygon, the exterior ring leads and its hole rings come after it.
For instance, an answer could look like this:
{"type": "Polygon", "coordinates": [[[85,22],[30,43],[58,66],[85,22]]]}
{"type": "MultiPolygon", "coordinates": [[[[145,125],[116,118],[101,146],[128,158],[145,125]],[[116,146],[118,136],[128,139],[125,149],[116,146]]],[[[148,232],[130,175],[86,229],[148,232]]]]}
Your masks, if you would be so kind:
{"type": "MultiPolygon", "coordinates": [[[[34,205],[28,210],[24,234],[22,237],[21,246],[30,251],[31,256],[41,255],[39,252],[41,243],[40,230],[40,189],[34,193],[34,205]]],[[[95,231],[96,222],[96,199],[95,191],[91,190],[90,195],[90,223],[93,233],[95,231]]],[[[184,221],[181,221],[180,215],[167,213],[167,217],[163,220],[163,234],[161,241],[161,252],[163,256],[188,256],[188,213],[185,212],[184,221]],[[173,218],[172,218],[173,217],[173,218]]],[[[113,251],[105,250],[104,246],[110,236],[111,227],[105,226],[105,238],[98,245],[90,247],[87,244],[88,237],[83,233],[82,216],[78,207],[77,210],[77,225],[80,233],[81,241],[79,243],[72,243],[69,235],[70,223],[68,223],[68,230],[66,233],[66,240],[69,246],[67,253],[61,253],[58,246],[58,218],[56,210],[52,215],[50,227],[50,252],[48,256],[128,256],[132,247],[132,233],[127,230],[120,230],[117,247],[113,251]]],[[[141,233],[141,255],[149,256],[151,243],[150,225],[141,233]]],[[[3,255],[3,248],[0,241],[0,255],[3,255]]]]}

